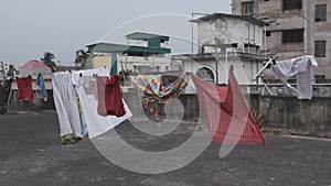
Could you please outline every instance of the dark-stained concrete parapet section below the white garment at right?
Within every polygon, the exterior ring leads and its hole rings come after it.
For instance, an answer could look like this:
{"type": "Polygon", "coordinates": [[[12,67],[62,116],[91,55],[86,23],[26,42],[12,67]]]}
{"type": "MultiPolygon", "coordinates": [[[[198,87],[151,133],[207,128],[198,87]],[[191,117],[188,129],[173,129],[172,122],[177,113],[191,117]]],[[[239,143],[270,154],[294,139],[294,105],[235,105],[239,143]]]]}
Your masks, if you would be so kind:
{"type": "Polygon", "coordinates": [[[265,127],[331,132],[331,98],[298,100],[296,97],[263,96],[259,113],[266,119],[265,127]]]}

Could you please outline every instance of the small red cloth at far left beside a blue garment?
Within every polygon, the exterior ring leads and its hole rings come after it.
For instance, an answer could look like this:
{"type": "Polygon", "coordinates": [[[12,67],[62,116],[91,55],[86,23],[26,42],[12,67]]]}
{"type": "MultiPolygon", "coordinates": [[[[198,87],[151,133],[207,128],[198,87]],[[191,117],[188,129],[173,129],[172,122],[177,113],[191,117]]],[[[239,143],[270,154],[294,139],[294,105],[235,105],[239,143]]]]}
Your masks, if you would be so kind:
{"type": "Polygon", "coordinates": [[[18,83],[18,98],[24,100],[33,100],[32,77],[19,77],[18,83]]]}

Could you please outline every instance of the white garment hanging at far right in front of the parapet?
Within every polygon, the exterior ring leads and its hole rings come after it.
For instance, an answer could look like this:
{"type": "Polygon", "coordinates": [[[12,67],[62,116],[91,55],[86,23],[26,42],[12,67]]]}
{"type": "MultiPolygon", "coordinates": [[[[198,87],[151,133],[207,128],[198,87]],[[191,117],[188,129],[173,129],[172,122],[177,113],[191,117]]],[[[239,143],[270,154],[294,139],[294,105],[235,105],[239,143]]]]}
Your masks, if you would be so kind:
{"type": "Polygon", "coordinates": [[[311,66],[318,66],[316,58],[305,55],[298,58],[276,62],[273,69],[289,92],[298,96],[298,99],[311,99],[312,78],[311,66]],[[297,89],[287,83],[288,78],[296,76],[297,89]]]}

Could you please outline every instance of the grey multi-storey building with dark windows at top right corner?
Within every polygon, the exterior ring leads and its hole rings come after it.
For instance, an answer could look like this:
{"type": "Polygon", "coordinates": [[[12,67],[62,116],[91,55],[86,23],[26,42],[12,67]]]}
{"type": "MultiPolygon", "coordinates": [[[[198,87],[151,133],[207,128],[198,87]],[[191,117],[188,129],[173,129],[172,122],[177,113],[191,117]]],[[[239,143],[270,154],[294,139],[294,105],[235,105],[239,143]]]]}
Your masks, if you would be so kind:
{"type": "Polygon", "coordinates": [[[276,59],[317,57],[316,83],[331,83],[330,0],[232,0],[234,15],[250,15],[268,24],[261,52],[276,59]]]}

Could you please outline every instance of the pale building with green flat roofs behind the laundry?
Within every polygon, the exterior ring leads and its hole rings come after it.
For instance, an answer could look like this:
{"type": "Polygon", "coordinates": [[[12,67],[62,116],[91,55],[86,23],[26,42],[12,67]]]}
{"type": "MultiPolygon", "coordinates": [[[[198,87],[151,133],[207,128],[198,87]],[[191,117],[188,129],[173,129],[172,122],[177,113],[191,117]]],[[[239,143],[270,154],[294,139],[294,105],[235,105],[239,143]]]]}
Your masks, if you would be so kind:
{"type": "Polygon", "coordinates": [[[87,45],[92,53],[87,67],[106,67],[111,74],[130,69],[141,74],[170,70],[169,36],[135,32],[126,39],[127,44],[87,45]]]}

